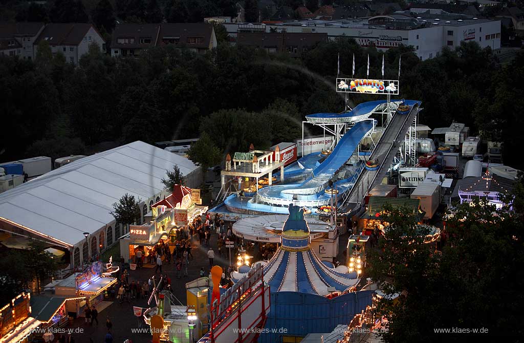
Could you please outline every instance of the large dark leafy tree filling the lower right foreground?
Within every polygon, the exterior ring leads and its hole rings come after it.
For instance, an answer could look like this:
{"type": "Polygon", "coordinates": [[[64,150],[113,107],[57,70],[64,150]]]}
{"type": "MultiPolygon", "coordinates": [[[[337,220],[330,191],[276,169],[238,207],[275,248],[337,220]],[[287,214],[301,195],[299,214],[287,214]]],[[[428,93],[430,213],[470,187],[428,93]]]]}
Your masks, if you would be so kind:
{"type": "Polygon", "coordinates": [[[378,313],[388,317],[386,342],[448,341],[434,329],[457,326],[487,328],[486,341],[524,334],[523,194],[519,181],[501,209],[479,200],[455,207],[441,252],[424,243],[427,232],[412,217],[391,211],[390,228],[368,259],[385,293],[378,313]],[[400,296],[389,300],[394,294],[400,296]]]}

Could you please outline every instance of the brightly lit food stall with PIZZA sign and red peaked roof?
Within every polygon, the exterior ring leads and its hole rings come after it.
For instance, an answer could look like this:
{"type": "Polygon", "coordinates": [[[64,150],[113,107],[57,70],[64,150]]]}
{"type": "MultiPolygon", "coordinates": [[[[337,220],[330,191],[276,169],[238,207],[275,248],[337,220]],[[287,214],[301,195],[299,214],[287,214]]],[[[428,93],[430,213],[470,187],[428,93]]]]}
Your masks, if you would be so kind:
{"type": "Polygon", "coordinates": [[[120,253],[125,261],[136,263],[136,253],[141,251],[141,262],[154,264],[155,245],[160,240],[174,245],[189,238],[189,225],[208,211],[202,206],[200,189],[174,185],[167,197],[151,206],[142,225],[129,226],[129,237],[120,240],[120,253]]]}

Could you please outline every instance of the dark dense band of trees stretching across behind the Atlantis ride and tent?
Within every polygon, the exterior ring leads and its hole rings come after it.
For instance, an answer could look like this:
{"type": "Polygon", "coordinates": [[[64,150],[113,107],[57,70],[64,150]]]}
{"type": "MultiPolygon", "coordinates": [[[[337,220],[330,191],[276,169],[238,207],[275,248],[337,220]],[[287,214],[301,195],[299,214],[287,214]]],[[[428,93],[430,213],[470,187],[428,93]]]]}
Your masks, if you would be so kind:
{"type": "MultiPolygon", "coordinates": [[[[115,59],[92,47],[78,67],[42,47],[34,62],[0,58],[0,160],[38,154],[81,153],[101,142],[157,142],[208,132],[221,151],[292,141],[305,114],[340,112],[335,92],[337,54],[341,74],[380,77],[382,53],[351,39],[321,44],[301,59],[221,45],[205,55],[172,47],[152,48],[139,58],[115,59]]],[[[440,56],[419,59],[409,48],[385,53],[386,79],[398,74],[401,98],[420,99],[420,123],[430,127],[464,122],[504,140],[518,152],[524,55],[502,66],[489,48],[474,42],[440,56]]],[[[356,95],[350,104],[378,99],[356,95]]],[[[516,160],[510,163],[519,167],[516,160]]]]}

